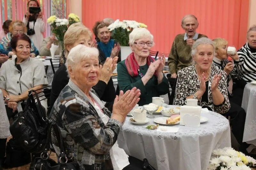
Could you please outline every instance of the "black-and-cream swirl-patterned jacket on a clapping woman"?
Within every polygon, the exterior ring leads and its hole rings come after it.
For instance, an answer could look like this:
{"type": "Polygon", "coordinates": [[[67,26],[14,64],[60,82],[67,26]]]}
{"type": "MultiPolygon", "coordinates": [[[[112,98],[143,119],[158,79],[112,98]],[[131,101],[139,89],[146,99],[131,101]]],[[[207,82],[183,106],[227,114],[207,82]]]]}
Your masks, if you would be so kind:
{"type": "MultiPolygon", "coordinates": [[[[211,67],[212,67],[211,68],[212,70],[211,70],[209,86],[208,86],[208,103],[201,102],[201,99],[200,99],[198,100],[198,105],[209,106],[212,108],[214,112],[224,114],[228,112],[228,110],[230,109],[230,103],[228,100],[227,74],[213,65],[211,67]],[[220,73],[221,73],[221,78],[220,78],[220,83],[218,85],[218,88],[220,92],[223,94],[225,100],[221,105],[216,106],[213,104],[213,101],[212,101],[211,85],[212,85],[213,76],[215,74],[220,74],[220,73]]],[[[174,104],[182,106],[182,105],[185,105],[186,97],[191,96],[196,91],[198,91],[200,88],[200,85],[199,85],[199,80],[196,76],[196,70],[194,65],[191,65],[184,69],[179,70],[177,77],[178,78],[177,78],[177,84],[176,84],[174,104]]]]}

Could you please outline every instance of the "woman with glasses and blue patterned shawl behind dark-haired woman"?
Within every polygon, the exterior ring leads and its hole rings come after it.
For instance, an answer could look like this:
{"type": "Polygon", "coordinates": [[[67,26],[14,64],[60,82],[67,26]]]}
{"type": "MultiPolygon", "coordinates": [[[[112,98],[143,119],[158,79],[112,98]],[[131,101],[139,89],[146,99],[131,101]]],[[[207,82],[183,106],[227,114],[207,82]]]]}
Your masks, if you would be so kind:
{"type": "MultiPolygon", "coordinates": [[[[9,33],[7,33],[6,36],[0,42],[0,53],[8,55],[9,57],[14,55],[12,51],[12,47],[10,45],[12,37],[17,34],[23,34],[23,33],[27,33],[27,27],[24,25],[24,23],[19,20],[12,21],[11,25],[9,26],[9,33]]],[[[39,52],[35,47],[34,43],[31,41],[30,57],[33,58],[36,55],[39,55],[39,52]]]]}

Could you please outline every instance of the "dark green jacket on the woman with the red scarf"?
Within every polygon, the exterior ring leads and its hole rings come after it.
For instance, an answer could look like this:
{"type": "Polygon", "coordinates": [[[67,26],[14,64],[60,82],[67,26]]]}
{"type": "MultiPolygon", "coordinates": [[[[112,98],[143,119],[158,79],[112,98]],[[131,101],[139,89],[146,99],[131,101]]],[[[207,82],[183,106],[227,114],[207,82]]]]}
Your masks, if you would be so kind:
{"type": "MultiPolygon", "coordinates": [[[[146,85],[143,84],[140,76],[132,77],[129,75],[128,70],[124,63],[125,60],[117,64],[117,81],[119,90],[126,92],[131,90],[133,87],[140,89],[140,101],[139,106],[143,106],[152,103],[152,97],[159,97],[159,95],[164,95],[169,91],[169,82],[164,76],[162,83],[157,85],[157,77],[153,76],[148,80],[146,85]]],[[[140,66],[140,73],[146,74],[148,70],[148,65],[140,66]]]]}

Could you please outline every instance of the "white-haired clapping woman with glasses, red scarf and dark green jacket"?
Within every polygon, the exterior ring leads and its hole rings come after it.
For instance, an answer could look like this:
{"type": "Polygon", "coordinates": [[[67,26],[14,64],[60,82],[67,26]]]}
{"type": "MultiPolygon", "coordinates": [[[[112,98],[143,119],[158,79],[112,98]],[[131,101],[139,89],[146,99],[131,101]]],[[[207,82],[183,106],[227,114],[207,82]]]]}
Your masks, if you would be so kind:
{"type": "Polygon", "coordinates": [[[140,89],[139,105],[152,102],[152,97],[166,94],[169,82],[163,74],[165,59],[154,60],[149,51],[154,45],[153,35],[146,28],[135,28],[129,35],[132,53],[117,64],[117,81],[120,90],[140,89]]]}

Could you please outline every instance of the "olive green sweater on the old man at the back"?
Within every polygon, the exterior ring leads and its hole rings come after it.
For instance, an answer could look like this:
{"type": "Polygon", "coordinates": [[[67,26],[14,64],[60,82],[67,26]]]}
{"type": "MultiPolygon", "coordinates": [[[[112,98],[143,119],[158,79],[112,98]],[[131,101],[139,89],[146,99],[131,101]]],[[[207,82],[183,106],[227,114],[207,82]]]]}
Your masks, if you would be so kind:
{"type": "MultiPolygon", "coordinates": [[[[184,40],[184,35],[185,33],[178,34],[172,43],[172,49],[168,57],[168,66],[171,74],[177,73],[179,70],[190,66],[192,63],[191,47],[189,47],[184,40]]],[[[207,36],[198,34],[197,39],[202,37],[207,36]]]]}

